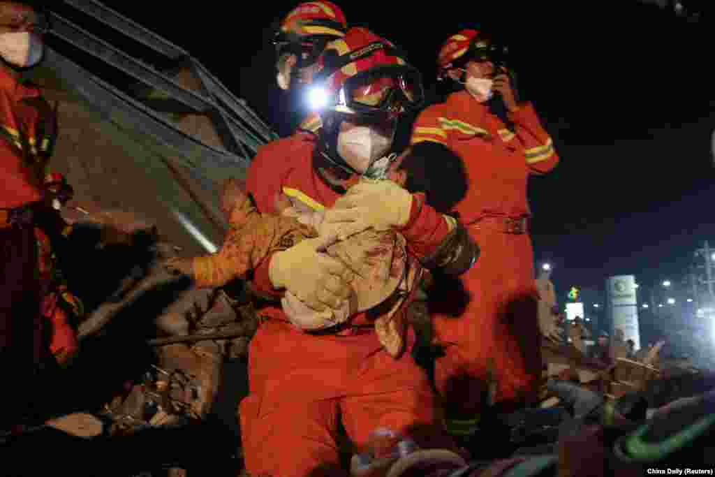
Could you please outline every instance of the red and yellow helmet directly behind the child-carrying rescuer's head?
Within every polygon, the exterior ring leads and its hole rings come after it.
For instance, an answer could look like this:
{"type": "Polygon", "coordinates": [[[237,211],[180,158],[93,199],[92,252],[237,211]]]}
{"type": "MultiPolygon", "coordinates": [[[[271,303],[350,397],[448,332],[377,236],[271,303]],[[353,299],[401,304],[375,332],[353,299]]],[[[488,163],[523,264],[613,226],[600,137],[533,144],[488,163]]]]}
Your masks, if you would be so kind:
{"type": "Polygon", "coordinates": [[[347,30],[345,14],[330,1],[309,1],[290,11],[280,23],[273,43],[277,56],[295,54],[298,67],[315,63],[325,45],[342,38],[347,30]]]}

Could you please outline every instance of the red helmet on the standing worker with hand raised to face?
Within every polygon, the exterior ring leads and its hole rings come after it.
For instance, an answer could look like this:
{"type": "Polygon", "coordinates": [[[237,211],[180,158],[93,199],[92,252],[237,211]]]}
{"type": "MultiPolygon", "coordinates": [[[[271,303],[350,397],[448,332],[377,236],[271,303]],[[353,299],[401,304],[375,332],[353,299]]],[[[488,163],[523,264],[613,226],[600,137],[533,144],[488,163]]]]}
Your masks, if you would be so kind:
{"type": "Polygon", "coordinates": [[[437,56],[438,78],[442,79],[448,70],[464,67],[470,61],[490,61],[495,67],[503,67],[506,54],[506,47],[495,45],[479,31],[462,30],[450,36],[440,48],[437,56]]]}

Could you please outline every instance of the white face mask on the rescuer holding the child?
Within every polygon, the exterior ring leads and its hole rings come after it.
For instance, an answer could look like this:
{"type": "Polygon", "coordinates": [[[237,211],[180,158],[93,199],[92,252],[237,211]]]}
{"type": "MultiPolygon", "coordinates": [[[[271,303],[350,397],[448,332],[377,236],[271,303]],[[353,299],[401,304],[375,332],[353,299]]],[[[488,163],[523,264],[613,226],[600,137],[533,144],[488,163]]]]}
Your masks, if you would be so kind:
{"type": "Polygon", "coordinates": [[[337,153],[347,165],[360,173],[385,156],[392,144],[392,137],[384,136],[369,126],[355,126],[337,134],[337,153]]]}

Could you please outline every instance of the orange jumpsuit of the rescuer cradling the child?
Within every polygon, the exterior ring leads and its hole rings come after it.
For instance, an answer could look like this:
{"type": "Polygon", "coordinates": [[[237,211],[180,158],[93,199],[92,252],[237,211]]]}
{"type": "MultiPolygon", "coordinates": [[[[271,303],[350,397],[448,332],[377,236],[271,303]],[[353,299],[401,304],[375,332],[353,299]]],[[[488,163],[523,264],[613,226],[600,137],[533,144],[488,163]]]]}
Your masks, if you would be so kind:
{"type": "MultiPolygon", "coordinates": [[[[312,167],[314,136],[298,133],[262,147],[247,174],[247,191],[262,213],[276,213],[281,192],[319,210],[340,197],[312,167]]],[[[428,255],[448,235],[443,217],[413,206],[405,238],[428,255]],[[426,238],[425,238],[426,237],[426,238]]],[[[270,257],[255,269],[252,287],[277,295],[268,277],[270,257]]],[[[309,334],[287,323],[280,308],[257,311],[263,318],[249,350],[250,395],[240,403],[245,466],[252,475],[335,475],[338,419],[364,451],[370,433],[390,428],[420,441],[435,434],[433,394],[410,353],[391,357],[372,327],[337,334],[309,334]],[[424,434],[423,434],[424,433],[424,434]]],[[[352,323],[370,323],[365,314],[352,323]]],[[[413,333],[408,344],[414,343],[413,333]]]]}

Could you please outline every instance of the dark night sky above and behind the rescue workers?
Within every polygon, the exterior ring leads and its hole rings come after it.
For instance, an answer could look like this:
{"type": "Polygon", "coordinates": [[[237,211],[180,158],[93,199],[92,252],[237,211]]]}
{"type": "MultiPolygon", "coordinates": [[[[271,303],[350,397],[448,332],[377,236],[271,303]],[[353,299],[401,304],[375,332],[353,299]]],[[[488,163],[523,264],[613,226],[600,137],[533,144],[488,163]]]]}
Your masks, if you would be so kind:
{"type": "MultiPolygon", "coordinates": [[[[300,119],[275,87],[266,28],[297,0],[105,3],[187,49],[281,134],[300,119]]],[[[556,265],[558,287],[658,280],[715,239],[712,23],[628,0],[338,3],[350,24],[403,46],[428,89],[450,34],[479,26],[510,42],[561,156],[530,186],[536,257],[556,265]]]]}

